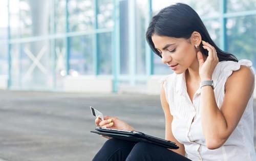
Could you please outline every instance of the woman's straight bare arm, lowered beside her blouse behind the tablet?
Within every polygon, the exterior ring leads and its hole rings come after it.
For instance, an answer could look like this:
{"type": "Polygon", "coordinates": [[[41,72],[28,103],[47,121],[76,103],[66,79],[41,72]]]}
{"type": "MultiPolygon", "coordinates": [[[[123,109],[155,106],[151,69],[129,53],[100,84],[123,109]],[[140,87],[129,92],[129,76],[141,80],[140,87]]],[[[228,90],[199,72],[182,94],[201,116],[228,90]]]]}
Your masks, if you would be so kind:
{"type": "Polygon", "coordinates": [[[172,122],[173,122],[173,116],[170,114],[169,105],[165,98],[165,92],[163,86],[161,86],[161,105],[164,111],[165,116],[165,140],[175,142],[177,146],[179,146],[179,149],[169,149],[176,153],[179,153],[180,155],[185,156],[185,148],[183,144],[180,144],[174,137],[172,132],[172,122]]]}

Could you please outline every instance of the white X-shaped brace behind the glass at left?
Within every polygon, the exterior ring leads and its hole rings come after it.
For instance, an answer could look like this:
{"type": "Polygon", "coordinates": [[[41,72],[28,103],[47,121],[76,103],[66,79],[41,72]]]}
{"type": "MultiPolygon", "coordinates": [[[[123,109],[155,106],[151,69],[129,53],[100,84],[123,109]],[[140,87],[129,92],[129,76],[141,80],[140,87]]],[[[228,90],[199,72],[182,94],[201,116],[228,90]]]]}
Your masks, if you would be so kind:
{"type": "Polygon", "coordinates": [[[24,52],[33,61],[32,65],[29,67],[27,73],[25,74],[25,77],[31,76],[36,66],[39,68],[39,70],[41,70],[42,73],[46,74],[47,72],[46,68],[42,66],[42,64],[40,63],[40,59],[45,54],[46,50],[47,50],[46,46],[42,47],[39,53],[37,54],[37,56],[35,57],[28,48],[24,49],[24,52]]]}

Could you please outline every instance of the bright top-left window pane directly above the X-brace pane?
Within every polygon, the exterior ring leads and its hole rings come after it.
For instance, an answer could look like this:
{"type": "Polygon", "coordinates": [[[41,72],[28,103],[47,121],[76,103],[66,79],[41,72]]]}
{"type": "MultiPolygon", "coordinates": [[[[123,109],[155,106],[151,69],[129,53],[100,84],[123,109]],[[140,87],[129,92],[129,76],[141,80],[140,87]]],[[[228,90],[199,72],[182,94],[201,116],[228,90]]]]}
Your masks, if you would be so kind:
{"type": "Polygon", "coordinates": [[[10,1],[11,37],[49,34],[50,1],[10,1]],[[18,4],[18,5],[17,5],[18,4]]]}

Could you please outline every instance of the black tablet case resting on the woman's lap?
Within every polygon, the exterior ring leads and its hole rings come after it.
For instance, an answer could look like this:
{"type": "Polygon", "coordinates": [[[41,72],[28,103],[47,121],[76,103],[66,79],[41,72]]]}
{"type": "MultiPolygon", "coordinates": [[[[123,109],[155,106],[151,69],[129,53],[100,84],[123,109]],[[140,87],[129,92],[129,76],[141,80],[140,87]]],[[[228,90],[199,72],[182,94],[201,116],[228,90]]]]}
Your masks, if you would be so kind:
{"type": "Polygon", "coordinates": [[[117,130],[117,129],[102,128],[102,127],[96,127],[95,130],[97,131],[90,131],[90,132],[113,137],[116,139],[127,140],[135,143],[148,142],[148,143],[156,144],[158,146],[162,146],[164,148],[179,149],[179,147],[174,142],[163,140],[155,136],[147,135],[139,131],[126,131],[126,130],[117,130]]]}

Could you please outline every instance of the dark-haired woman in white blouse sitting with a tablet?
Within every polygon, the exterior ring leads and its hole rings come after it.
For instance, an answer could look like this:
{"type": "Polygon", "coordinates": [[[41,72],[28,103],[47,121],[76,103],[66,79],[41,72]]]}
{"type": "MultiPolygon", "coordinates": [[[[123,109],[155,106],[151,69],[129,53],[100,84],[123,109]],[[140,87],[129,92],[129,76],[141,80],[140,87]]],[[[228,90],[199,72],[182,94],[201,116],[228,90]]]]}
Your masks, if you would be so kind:
{"type": "MultiPolygon", "coordinates": [[[[155,15],[146,39],[174,71],[161,80],[160,96],[165,139],[179,149],[110,139],[94,160],[256,160],[251,61],[220,50],[185,4],[155,15]]],[[[105,119],[96,119],[96,125],[135,130],[118,118],[105,119]]]]}

